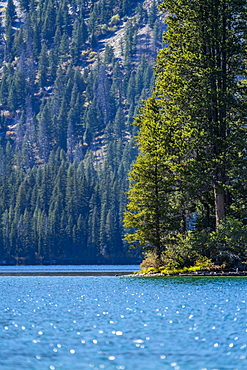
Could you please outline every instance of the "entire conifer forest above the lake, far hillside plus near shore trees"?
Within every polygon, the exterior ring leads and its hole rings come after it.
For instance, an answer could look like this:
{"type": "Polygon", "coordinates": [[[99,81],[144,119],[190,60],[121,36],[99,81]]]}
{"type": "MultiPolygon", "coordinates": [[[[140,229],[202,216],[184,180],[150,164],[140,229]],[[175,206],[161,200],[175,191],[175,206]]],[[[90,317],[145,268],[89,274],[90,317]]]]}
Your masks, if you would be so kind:
{"type": "Polygon", "coordinates": [[[246,7],[0,3],[0,264],[246,270],[246,7]]]}

